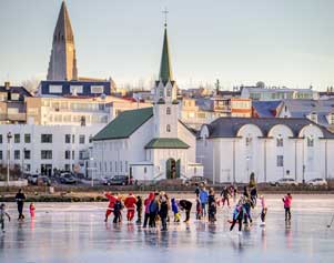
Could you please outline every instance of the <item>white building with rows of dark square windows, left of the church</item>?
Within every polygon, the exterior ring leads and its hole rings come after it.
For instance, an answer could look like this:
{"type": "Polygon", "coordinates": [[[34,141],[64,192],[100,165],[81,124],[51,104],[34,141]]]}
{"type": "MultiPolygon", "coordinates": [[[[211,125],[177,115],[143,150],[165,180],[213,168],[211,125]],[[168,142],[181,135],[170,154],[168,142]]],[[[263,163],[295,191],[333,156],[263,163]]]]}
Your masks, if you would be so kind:
{"type": "Polygon", "coordinates": [[[87,173],[91,139],[98,131],[95,125],[0,125],[0,164],[7,166],[10,149],[10,166],[26,173],[51,175],[55,169],[87,173]]]}

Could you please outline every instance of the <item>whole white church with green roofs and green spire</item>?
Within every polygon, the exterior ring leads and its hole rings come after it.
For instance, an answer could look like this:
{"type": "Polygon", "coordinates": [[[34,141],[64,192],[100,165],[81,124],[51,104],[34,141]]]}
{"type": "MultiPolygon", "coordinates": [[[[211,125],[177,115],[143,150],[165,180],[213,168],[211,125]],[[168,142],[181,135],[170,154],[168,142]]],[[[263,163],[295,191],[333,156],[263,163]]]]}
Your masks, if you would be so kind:
{"type": "Polygon", "coordinates": [[[152,108],[122,112],[93,138],[95,178],[152,181],[203,175],[202,164],[195,162],[196,134],[179,120],[166,24],[152,92],[152,108]]]}

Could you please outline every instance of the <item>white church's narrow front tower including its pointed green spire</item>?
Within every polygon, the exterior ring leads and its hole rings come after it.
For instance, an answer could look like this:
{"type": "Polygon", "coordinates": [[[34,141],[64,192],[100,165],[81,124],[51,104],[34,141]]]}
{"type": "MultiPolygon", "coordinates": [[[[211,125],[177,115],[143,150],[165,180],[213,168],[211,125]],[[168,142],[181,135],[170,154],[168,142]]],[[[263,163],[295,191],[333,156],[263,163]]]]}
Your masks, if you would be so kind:
{"type": "Polygon", "coordinates": [[[176,82],[173,80],[168,29],[164,24],[159,80],[154,87],[154,136],[178,138],[176,82]]]}

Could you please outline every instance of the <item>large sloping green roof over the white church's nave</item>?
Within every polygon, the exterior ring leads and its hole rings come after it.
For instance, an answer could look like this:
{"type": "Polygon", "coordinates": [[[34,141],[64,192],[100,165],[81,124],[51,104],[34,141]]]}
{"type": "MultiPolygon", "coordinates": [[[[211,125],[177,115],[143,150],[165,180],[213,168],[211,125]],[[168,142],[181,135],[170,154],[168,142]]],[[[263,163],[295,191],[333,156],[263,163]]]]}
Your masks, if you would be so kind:
{"type": "Polygon", "coordinates": [[[129,138],[135,130],[153,115],[153,108],[123,111],[112,122],[104,127],[93,141],[129,138]]]}

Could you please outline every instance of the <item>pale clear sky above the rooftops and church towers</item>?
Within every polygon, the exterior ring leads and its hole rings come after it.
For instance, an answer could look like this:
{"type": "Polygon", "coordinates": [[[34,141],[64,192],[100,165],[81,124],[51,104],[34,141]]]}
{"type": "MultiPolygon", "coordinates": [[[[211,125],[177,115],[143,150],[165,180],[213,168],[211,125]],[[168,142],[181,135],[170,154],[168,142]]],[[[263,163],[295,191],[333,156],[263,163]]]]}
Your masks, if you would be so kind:
{"type": "MultiPolygon", "coordinates": [[[[0,0],[0,83],[45,79],[61,0],[0,0]]],[[[67,0],[81,77],[119,87],[159,73],[162,11],[174,79],[334,85],[333,0],[67,0]]]]}

